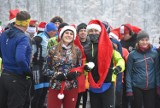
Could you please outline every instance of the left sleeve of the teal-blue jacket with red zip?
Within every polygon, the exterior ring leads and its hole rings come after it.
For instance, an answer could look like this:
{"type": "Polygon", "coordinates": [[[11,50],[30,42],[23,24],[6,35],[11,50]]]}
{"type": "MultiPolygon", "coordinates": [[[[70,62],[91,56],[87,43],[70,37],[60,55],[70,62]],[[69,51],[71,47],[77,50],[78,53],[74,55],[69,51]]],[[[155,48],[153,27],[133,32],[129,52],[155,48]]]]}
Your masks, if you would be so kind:
{"type": "Polygon", "coordinates": [[[133,53],[130,53],[127,60],[127,68],[126,68],[126,92],[133,92],[132,91],[132,68],[133,68],[133,53]]]}

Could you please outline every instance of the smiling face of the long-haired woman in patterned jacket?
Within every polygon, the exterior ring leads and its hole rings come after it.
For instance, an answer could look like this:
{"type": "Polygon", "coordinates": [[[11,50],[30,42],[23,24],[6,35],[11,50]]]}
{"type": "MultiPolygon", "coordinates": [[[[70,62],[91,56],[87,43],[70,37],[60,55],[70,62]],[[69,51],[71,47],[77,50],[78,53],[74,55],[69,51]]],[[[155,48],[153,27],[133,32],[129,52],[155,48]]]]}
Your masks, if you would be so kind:
{"type": "Polygon", "coordinates": [[[68,45],[69,43],[71,43],[74,39],[74,34],[72,31],[65,31],[63,36],[62,36],[62,41],[65,45],[68,45]]]}

